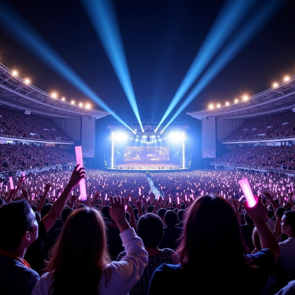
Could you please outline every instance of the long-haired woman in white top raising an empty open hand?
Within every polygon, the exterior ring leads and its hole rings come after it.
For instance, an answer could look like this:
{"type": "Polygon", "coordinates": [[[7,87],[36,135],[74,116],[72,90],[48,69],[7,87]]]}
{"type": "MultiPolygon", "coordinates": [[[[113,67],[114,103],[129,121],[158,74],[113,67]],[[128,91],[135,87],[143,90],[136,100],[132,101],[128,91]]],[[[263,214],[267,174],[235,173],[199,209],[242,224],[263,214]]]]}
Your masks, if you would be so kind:
{"type": "Polygon", "coordinates": [[[51,251],[47,273],[32,295],[128,294],[148,264],[148,253],[125,219],[123,198],[111,197],[110,214],[127,255],[110,262],[101,214],[94,208],[78,209],[65,222],[51,251]]]}

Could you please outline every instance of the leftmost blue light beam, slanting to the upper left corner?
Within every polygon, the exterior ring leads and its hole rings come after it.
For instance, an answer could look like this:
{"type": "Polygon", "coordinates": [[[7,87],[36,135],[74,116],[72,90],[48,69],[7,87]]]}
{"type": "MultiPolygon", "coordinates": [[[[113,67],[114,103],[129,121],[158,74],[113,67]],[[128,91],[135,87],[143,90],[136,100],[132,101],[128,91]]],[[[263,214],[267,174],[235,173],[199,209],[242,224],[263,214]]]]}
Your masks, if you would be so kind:
{"type": "Polygon", "coordinates": [[[0,22],[5,25],[5,30],[9,30],[18,42],[35,53],[47,66],[59,73],[60,76],[90,97],[102,109],[110,112],[115,119],[135,133],[17,12],[7,6],[1,6],[0,22]]]}

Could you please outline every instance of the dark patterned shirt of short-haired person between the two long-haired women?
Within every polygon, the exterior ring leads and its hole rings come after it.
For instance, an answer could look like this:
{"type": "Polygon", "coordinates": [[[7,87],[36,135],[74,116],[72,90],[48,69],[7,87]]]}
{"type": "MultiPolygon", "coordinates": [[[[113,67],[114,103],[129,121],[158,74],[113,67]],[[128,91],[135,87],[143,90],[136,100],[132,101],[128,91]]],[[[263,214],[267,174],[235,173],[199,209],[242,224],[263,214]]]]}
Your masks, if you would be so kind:
{"type": "MultiPolygon", "coordinates": [[[[170,263],[170,264],[177,264],[178,256],[173,256],[174,251],[172,249],[162,249],[160,253],[156,256],[148,258],[148,265],[145,267],[143,275],[141,276],[140,280],[137,284],[131,289],[129,292],[130,295],[146,295],[148,294],[148,286],[150,283],[150,279],[158,266],[162,263],[170,263]]],[[[117,261],[120,261],[122,257],[126,255],[125,251],[121,252],[118,255],[117,261]]]]}

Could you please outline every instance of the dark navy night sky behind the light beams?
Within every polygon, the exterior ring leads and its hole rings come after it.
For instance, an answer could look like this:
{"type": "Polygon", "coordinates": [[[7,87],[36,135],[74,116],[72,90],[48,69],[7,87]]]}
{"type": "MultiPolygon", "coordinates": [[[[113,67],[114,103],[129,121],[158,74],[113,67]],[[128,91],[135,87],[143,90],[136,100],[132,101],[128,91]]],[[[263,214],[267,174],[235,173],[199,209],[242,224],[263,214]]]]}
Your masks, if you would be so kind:
{"type": "MultiPolygon", "coordinates": [[[[79,1],[9,3],[124,121],[136,121],[79,1]]],[[[119,0],[114,4],[141,119],[159,121],[223,1],[119,0]]],[[[294,1],[286,2],[185,112],[207,108],[209,102],[232,101],[244,93],[253,95],[282,81],[284,75],[294,75],[294,8],[294,1]]],[[[15,36],[5,33],[5,26],[0,27],[0,61],[47,92],[89,101],[19,45],[15,36]]],[[[191,121],[185,112],[176,121],[191,121]]]]}

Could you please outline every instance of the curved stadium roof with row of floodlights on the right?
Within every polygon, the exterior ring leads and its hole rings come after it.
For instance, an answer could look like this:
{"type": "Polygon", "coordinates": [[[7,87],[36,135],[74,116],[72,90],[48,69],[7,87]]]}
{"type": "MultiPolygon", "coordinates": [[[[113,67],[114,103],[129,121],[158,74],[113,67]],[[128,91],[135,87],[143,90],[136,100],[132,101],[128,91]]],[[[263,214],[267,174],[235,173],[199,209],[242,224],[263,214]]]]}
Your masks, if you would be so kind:
{"type": "Polygon", "coordinates": [[[186,114],[196,119],[204,117],[235,119],[261,116],[293,107],[295,107],[295,76],[286,78],[280,84],[253,96],[246,96],[231,104],[224,104],[219,107],[212,106],[211,109],[187,112],[186,114]]]}

